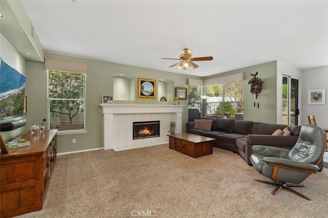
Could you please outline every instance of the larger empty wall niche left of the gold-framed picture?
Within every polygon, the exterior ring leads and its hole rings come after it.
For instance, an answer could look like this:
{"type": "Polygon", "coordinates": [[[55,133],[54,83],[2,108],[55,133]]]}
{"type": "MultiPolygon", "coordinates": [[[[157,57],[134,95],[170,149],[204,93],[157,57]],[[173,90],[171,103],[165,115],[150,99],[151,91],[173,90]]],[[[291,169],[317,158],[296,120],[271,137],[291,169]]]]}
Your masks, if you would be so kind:
{"type": "Polygon", "coordinates": [[[114,100],[135,100],[135,78],[127,74],[114,74],[113,97],[114,100]]]}

